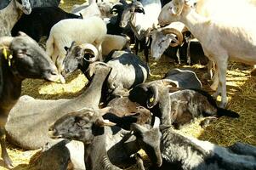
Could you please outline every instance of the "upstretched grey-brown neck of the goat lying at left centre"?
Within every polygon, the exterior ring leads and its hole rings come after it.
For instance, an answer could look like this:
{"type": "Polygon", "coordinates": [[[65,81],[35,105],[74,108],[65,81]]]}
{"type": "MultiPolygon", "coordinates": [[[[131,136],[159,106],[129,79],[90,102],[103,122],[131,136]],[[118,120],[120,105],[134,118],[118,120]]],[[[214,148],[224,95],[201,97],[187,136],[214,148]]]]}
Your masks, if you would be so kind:
{"type": "Polygon", "coordinates": [[[75,99],[76,103],[82,105],[86,104],[91,108],[98,109],[103,83],[110,72],[111,68],[108,66],[101,65],[100,67],[97,67],[94,72],[93,80],[90,82],[88,89],[82,95],[77,97],[77,99],[75,99]]]}

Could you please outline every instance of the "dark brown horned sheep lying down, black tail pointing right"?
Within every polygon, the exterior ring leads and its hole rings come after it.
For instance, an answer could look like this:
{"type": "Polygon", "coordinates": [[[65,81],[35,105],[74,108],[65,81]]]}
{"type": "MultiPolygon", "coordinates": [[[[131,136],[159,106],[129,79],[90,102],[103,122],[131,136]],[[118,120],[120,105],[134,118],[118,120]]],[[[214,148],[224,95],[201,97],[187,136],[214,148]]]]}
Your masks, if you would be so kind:
{"type": "Polygon", "coordinates": [[[175,86],[173,81],[166,79],[142,83],[130,91],[128,98],[150,109],[163,124],[172,124],[176,128],[201,116],[239,117],[234,111],[219,108],[211,95],[201,89],[177,89],[175,86]]]}

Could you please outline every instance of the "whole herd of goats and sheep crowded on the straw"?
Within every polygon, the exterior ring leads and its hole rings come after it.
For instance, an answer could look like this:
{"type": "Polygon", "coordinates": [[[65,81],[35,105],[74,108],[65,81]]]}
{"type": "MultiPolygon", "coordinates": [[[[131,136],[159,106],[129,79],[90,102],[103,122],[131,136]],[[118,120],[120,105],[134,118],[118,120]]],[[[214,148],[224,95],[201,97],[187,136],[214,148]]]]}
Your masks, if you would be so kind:
{"type": "Polygon", "coordinates": [[[142,170],[149,167],[138,153],[142,149],[150,169],[256,170],[253,145],[222,147],[174,130],[197,117],[205,117],[202,127],[219,116],[239,117],[225,109],[226,70],[229,60],[256,65],[255,0],[89,0],[71,13],[59,3],[0,2],[0,143],[6,167],[13,167],[8,138],[22,149],[43,148],[35,169],[142,170]],[[179,63],[208,65],[216,93],[203,91],[195,72],[178,68],[145,82],[148,56],[159,59],[163,53],[179,63]],[[20,96],[26,78],[65,83],[78,69],[88,85],[76,98],[20,96]]]}

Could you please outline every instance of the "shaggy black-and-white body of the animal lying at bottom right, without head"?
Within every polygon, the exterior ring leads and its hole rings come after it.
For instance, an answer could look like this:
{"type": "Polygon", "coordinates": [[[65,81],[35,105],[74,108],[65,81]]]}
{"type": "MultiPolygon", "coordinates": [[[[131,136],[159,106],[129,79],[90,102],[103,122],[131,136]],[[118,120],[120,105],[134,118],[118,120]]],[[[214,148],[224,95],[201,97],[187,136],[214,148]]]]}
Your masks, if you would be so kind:
{"type": "MultiPolygon", "coordinates": [[[[238,153],[208,141],[188,138],[176,133],[171,127],[162,125],[162,167],[153,167],[154,170],[165,169],[248,169],[256,168],[256,156],[250,154],[256,151],[254,146],[246,146],[250,151],[238,153]],[[252,151],[253,150],[253,151],[252,151]]],[[[236,145],[236,144],[234,144],[236,145]]],[[[242,147],[240,148],[242,150],[242,147]]]]}

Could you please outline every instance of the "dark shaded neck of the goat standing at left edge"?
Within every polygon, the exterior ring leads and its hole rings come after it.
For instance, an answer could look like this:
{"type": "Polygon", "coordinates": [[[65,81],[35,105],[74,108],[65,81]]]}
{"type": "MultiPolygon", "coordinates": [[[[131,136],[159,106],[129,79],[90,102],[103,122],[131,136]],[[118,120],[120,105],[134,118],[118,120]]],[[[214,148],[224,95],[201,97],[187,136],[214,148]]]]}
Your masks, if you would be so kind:
{"type": "Polygon", "coordinates": [[[9,61],[4,59],[3,54],[0,54],[0,62],[0,113],[7,115],[20,98],[23,79],[13,74],[9,61]]]}

